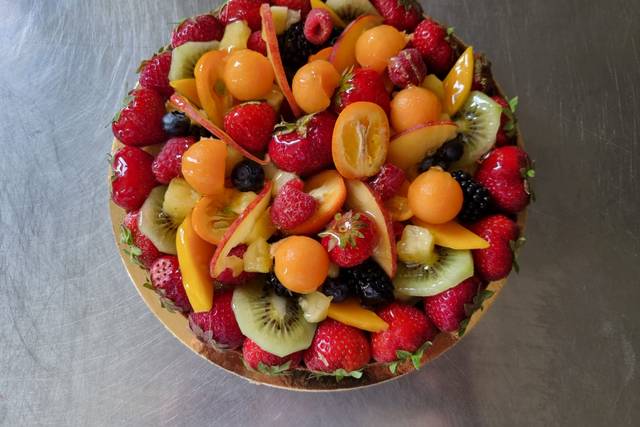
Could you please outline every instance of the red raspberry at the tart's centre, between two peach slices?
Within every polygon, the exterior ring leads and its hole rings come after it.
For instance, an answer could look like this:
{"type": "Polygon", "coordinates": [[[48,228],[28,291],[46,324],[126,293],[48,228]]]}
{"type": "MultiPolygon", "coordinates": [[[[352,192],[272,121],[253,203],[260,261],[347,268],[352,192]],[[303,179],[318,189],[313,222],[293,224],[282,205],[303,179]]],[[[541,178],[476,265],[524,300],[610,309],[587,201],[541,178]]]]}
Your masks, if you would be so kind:
{"type": "Polygon", "coordinates": [[[318,201],[303,192],[302,187],[302,181],[292,179],[280,189],[273,200],[271,222],[281,230],[289,230],[302,224],[318,208],[318,201]]]}

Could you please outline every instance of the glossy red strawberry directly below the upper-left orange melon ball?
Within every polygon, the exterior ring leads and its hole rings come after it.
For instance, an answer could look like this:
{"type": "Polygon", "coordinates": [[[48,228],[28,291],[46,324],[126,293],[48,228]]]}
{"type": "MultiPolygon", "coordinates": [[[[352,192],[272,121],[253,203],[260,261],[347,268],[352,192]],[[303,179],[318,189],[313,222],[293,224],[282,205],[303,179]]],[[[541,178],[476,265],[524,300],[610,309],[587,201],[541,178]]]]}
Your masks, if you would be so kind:
{"type": "Polygon", "coordinates": [[[276,124],[276,112],[266,102],[247,102],[224,116],[224,128],[243,148],[254,154],[265,151],[276,124]]]}

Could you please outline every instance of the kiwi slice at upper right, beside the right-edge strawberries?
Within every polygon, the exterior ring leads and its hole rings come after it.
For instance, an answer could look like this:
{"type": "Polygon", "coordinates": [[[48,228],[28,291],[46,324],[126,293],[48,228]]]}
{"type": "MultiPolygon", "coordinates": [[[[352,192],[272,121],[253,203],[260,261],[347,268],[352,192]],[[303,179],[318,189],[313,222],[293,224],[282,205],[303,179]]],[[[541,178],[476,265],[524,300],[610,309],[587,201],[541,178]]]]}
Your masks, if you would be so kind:
{"type": "Polygon", "coordinates": [[[454,169],[473,165],[493,147],[501,115],[502,107],[497,102],[482,92],[471,92],[454,118],[464,142],[464,154],[453,165],[454,169]]]}

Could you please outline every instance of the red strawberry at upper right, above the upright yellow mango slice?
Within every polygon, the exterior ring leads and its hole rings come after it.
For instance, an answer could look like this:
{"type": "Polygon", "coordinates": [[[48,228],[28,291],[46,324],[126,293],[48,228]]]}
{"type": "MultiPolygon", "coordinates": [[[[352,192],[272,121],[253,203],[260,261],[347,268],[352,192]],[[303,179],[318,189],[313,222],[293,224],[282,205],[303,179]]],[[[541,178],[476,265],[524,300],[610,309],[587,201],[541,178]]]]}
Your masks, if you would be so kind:
{"type": "Polygon", "coordinates": [[[454,52],[449,45],[447,31],[432,19],[425,19],[413,32],[413,47],[418,49],[430,72],[445,76],[454,61],[454,52]]]}

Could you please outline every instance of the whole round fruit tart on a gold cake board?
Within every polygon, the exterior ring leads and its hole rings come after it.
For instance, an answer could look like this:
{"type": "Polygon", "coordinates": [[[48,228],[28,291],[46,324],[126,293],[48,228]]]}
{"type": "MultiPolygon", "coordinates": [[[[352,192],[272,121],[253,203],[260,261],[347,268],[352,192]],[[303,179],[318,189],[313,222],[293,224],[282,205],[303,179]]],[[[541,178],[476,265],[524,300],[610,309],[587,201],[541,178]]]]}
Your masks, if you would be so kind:
{"type": "Polygon", "coordinates": [[[229,0],[140,66],[111,216],[151,310],[251,381],[379,383],[474,326],[532,162],[487,59],[411,0],[229,0]]]}

